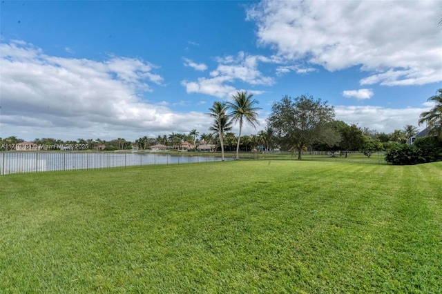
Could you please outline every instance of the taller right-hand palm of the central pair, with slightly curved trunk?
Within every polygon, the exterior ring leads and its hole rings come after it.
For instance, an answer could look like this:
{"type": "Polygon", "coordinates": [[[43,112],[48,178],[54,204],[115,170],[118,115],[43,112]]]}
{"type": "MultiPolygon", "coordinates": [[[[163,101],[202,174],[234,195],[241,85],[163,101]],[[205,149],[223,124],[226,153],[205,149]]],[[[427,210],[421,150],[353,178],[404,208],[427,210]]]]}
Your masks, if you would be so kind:
{"type": "Polygon", "coordinates": [[[239,151],[240,151],[240,139],[241,139],[241,130],[242,124],[244,120],[251,124],[253,128],[256,128],[255,124],[259,124],[258,121],[258,110],[261,108],[254,107],[255,104],[259,102],[255,99],[252,99],[253,94],[245,92],[236,92],[236,95],[232,95],[233,102],[227,102],[227,107],[231,110],[229,116],[232,117],[232,120],[237,123],[240,123],[240,133],[238,135],[238,143],[236,144],[236,160],[240,159],[239,151]]]}

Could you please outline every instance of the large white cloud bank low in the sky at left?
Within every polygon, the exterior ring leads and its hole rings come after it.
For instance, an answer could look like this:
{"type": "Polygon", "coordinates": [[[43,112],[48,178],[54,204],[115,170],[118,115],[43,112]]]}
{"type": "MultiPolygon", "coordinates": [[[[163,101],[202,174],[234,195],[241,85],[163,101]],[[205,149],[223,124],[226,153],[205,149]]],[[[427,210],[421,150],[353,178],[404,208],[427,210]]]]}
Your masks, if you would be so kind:
{"type": "Polygon", "coordinates": [[[209,128],[200,112],[146,103],[144,92],[163,82],[146,61],[52,57],[23,42],[1,43],[0,52],[2,137],[136,139],[209,128]]]}

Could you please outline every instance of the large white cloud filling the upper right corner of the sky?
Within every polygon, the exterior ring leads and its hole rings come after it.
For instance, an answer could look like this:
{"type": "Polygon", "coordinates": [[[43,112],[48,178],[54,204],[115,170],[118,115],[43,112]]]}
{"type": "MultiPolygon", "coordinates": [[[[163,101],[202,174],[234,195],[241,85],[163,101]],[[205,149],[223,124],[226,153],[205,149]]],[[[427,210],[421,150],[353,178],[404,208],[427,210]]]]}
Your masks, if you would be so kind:
{"type": "Polygon", "coordinates": [[[361,66],[362,85],[398,86],[442,81],[440,12],[439,1],[262,1],[247,15],[283,58],[361,66]]]}

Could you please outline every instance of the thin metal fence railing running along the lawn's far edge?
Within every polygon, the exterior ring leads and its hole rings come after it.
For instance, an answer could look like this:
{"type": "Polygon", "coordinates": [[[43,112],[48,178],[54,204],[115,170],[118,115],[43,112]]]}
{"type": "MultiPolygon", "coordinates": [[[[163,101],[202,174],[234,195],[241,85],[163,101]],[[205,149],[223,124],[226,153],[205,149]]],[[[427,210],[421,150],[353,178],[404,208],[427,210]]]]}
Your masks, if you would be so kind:
{"type": "MultiPolygon", "coordinates": [[[[303,160],[312,161],[352,161],[369,164],[385,164],[383,153],[373,153],[370,157],[362,153],[335,153],[310,151],[302,153],[303,160]]],[[[225,160],[235,159],[235,153],[226,152],[225,160]]],[[[295,160],[297,153],[261,152],[240,153],[246,160],[295,160]]],[[[161,164],[191,164],[221,161],[219,153],[208,155],[192,153],[72,153],[72,152],[2,152],[0,153],[0,175],[12,173],[39,173],[55,170],[79,170],[91,168],[113,168],[126,166],[146,166],[161,164]]]]}

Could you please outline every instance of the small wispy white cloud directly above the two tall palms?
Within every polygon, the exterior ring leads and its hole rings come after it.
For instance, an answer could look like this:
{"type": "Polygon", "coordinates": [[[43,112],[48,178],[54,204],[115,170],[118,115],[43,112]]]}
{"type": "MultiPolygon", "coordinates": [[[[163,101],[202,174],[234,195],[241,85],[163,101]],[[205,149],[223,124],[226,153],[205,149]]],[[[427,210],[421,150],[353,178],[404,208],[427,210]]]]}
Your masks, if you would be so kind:
{"type": "Polygon", "coordinates": [[[273,62],[271,58],[238,52],[236,56],[217,57],[215,60],[219,64],[209,73],[209,78],[200,77],[197,81],[181,82],[182,86],[186,87],[186,92],[226,98],[236,91],[236,88],[231,86],[234,81],[242,81],[253,86],[271,86],[274,83],[273,78],[265,77],[258,70],[258,61],[273,62]]]}

